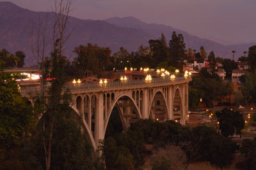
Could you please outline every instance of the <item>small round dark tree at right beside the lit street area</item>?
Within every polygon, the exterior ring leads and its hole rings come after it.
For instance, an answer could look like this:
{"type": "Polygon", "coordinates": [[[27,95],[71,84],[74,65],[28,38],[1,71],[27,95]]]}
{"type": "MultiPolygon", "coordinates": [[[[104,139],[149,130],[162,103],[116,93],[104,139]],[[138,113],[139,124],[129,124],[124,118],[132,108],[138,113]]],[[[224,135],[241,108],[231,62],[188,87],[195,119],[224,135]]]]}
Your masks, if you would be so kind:
{"type": "Polygon", "coordinates": [[[223,109],[220,113],[216,113],[220,119],[220,130],[223,136],[232,136],[235,132],[240,135],[241,130],[244,129],[244,117],[239,111],[223,109]]]}

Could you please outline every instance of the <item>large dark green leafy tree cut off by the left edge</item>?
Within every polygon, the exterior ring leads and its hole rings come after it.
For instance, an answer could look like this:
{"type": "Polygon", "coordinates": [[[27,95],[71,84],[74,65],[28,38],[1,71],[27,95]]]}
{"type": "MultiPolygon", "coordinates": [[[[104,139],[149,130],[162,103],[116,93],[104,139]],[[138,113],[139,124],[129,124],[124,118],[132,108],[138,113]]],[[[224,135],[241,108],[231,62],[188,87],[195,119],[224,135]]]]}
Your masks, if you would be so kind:
{"type": "Polygon", "coordinates": [[[29,136],[35,125],[32,108],[20,96],[12,78],[10,73],[0,70],[0,164],[12,162],[12,153],[17,154],[21,139],[29,136]]]}

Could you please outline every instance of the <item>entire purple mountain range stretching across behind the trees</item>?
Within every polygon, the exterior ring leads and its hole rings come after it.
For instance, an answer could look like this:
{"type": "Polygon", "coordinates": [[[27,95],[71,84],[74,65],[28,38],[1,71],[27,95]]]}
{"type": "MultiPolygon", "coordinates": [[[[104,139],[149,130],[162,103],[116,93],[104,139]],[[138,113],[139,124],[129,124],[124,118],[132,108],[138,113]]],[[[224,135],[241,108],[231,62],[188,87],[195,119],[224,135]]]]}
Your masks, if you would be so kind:
{"type": "MultiPolygon", "coordinates": [[[[38,28],[42,28],[38,25],[38,18],[44,21],[46,16],[49,18],[49,25],[45,34],[47,44],[45,47],[49,54],[52,44],[51,28],[54,22],[54,13],[31,11],[10,2],[0,2],[0,49],[5,48],[12,53],[21,50],[27,56],[26,65],[36,64],[35,57],[31,52],[31,30],[35,31],[35,35],[38,28]]],[[[198,52],[200,46],[204,46],[207,53],[214,51],[216,57],[231,59],[232,50],[235,50],[235,56],[238,59],[244,51],[248,51],[250,46],[256,44],[225,46],[168,25],[147,24],[134,17],[113,17],[106,20],[81,20],[70,17],[66,31],[72,32],[65,44],[65,54],[70,60],[75,56],[72,52],[75,46],[97,43],[99,46],[110,47],[113,52],[117,52],[121,46],[132,52],[136,51],[140,45],[148,46],[149,39],[158,39],[162,32],[169,41],[173,31],[184,36],[186,48],[193,48],[198,52]]]]}

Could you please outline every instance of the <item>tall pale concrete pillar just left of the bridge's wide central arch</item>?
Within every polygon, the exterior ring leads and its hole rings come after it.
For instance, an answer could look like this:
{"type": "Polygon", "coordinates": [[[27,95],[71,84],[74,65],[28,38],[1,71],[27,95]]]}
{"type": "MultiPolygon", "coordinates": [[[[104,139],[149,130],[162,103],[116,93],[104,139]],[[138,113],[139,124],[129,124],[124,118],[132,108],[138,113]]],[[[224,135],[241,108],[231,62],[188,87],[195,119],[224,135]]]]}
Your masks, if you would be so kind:
{"type": "Polygon", "coordinates": [[[97,110],[95,115],[95,142],[99,145],[99,140],[104,139],[104,117],[103,117],[103,94],[97,95],[97,110]]]}

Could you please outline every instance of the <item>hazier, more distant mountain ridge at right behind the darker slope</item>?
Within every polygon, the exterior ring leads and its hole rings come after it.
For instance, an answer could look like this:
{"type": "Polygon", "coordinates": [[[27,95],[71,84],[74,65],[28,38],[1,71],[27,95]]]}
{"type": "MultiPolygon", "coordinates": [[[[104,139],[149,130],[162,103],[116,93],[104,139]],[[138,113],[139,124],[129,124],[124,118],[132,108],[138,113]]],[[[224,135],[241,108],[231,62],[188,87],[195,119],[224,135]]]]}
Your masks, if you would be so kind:
{"type": "MultiPolygon", "coordinates": [[[[238,59],[241,55],[243,55],[244,51],[248,51],[248,48],[252,45],[256,45],[256,43],[246,43],[241,45],[221,45],[220,43],[216,43],[215,41],[211,41],[209,39],[198,38],[197,36],[193,36],[188,32],[175,29],[173,27],[163,25],[163,24],[147,24],[138,20],[134,17],[113,17],[105,20],[111,24],[115,24],[120,27],[131,27],[134,29],[141,29],[148,34],[154,36],[154,38],[159,38],[161,33],[166,36],[166,39],[170,40],[172,36],[172,32],[175,31],[177,34],[182,34],[184,36],[184,41],[186,43],[186,48],[196,49],[197,52],[200,50],[200,46],[204,46],[207,53],[214,51],[216,57],[225,57],[231,59],[232,51],[236,51],[236,59],[238,59]]],[[[168,42],[167,42],[168,43],[168,42]]]]}

